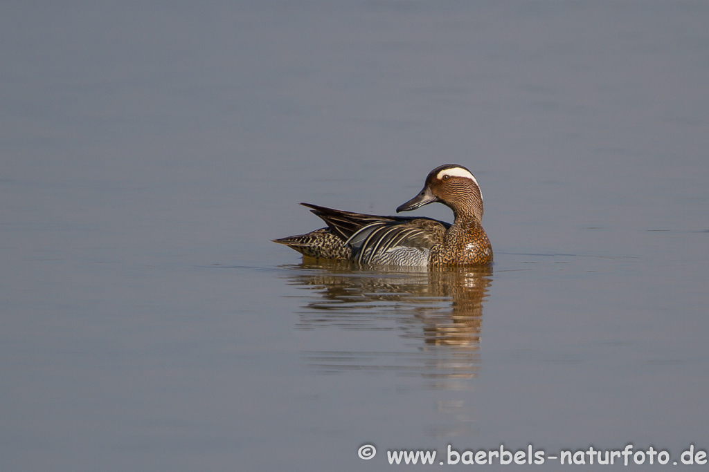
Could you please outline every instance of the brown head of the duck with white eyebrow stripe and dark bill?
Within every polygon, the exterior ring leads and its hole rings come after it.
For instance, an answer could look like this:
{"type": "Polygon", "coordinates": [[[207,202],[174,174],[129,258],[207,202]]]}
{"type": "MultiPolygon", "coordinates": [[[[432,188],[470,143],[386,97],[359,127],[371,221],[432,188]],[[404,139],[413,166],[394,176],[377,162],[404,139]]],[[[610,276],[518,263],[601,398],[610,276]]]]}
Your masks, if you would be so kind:
{"type": "Polygon", "coordinates": [[[423,190],[396,212],[410,212],[433,202],[450,207],[456,217],[472,214],[478,221],[483,217],[483,195],[478,181],[467,168],[458,164],[444,164],[430,171],[423,190]]]}

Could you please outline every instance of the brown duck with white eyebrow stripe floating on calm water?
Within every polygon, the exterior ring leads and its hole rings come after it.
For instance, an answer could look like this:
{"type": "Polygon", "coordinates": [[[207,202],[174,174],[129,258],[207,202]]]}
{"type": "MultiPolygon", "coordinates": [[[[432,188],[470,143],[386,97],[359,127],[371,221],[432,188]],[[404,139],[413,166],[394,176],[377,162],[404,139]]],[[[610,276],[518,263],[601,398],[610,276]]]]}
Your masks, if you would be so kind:
{"type": "Polygon", "coordinates": [[[452,209],[453,224],[428,217],[385,217],[301,203],[327,226],[273,242],[306,257],[360,265],[492,264],[492,246],[481,224],[483,196],[474,175],[459,164],[438,166],[426,176],[423,190],[396,212],[411,212],[434,202],[452,209]]]}

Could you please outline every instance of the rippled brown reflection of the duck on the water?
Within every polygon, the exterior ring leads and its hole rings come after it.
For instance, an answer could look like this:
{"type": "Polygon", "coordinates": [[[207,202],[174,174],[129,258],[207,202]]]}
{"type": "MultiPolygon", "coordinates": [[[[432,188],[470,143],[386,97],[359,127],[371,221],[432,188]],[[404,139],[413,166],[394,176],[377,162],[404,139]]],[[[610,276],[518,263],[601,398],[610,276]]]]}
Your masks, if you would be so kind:
{"type": "Polygon", "coordinates": [[[307,297],[298,328],[381,330],[393,318],[403,338],[423,340],[415,352],[391,356],[382,352],[309,352],[314,366],[328,372],[391,369],[437,379],[476,375],[491,267],[364,272],[350,263],[323,264],[309,258],[290,267],[288,277],[293,284],[318,293],[318,297],[307,297]]]}

